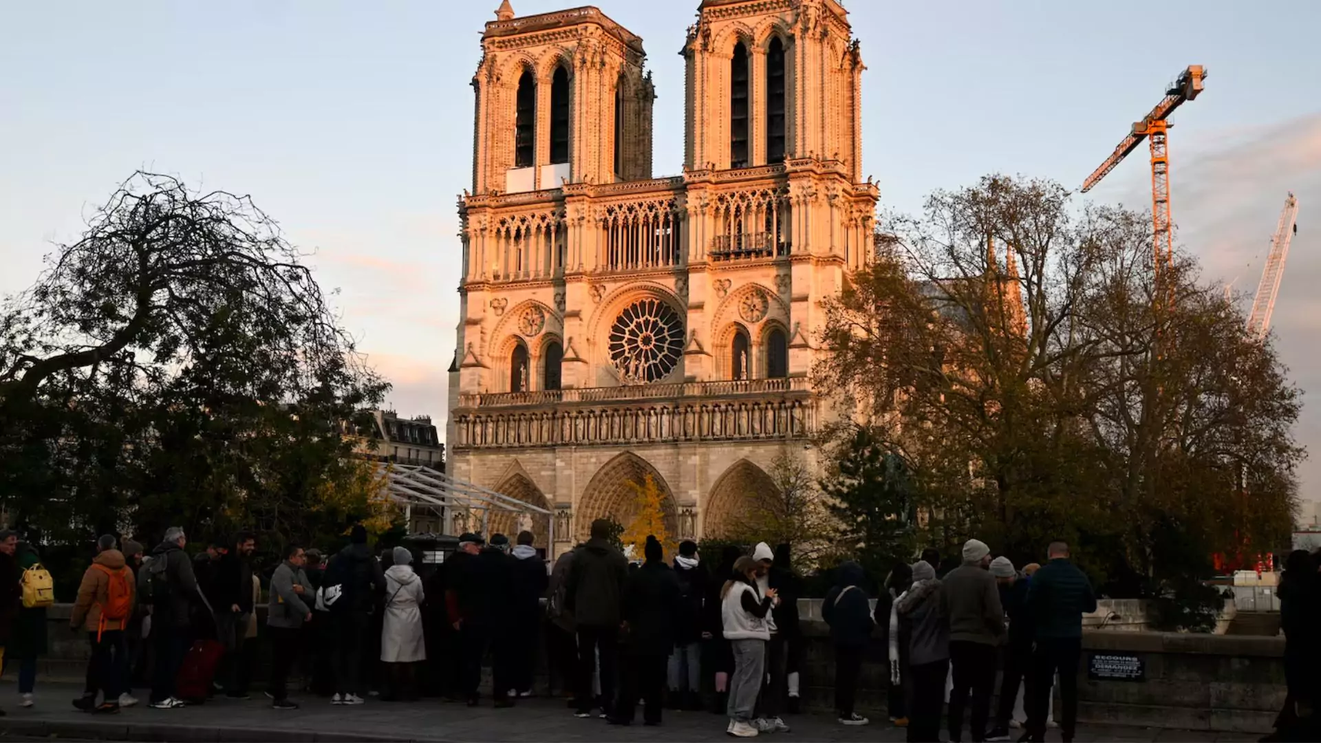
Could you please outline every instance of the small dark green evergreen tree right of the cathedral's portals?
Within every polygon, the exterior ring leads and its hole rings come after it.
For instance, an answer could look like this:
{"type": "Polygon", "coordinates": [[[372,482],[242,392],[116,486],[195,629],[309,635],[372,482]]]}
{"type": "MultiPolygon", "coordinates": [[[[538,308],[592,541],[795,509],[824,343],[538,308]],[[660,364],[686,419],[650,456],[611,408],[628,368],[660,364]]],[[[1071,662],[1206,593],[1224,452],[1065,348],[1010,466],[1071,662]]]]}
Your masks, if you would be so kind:
{"type": "Polygon", "coordinates": [[[841,524],[841,543],[855,547],[868,575],[884,578],[915,551],[915,500],[908,468],[867,428],[856,428],[832,453],[836,464],[822,481],[822,492],[841,524]]]}

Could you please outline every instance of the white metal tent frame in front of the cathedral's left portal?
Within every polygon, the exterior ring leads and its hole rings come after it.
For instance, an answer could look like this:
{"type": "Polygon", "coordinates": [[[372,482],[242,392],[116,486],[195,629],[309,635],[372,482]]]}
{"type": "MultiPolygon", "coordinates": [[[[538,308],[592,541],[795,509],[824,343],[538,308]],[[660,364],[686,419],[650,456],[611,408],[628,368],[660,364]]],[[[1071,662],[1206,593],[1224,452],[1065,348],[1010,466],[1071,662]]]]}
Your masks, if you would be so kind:
{"type": "MultiPolygon", "coordinates": [[[[490,525],[490,512],[501,510],[506,513],[540,513],[553,517],[555,514],[544,508],[535,506],[527,501],[497,493],[489,488],[474,485],[457,477],[450,477],[444,472],[424,467],[421,464],[394,464],[378,461],[376,472],[387,480],[390,498],[404,505],[408,518],[412,520],[412,508],[421,506],[439,510],[443,529],[449,531],[453,525],[454,509],[469,513],[481,512],[482,535],[490,525]]],[[[555,518],[547,520],[550,524],[547,543],[555,543],[555,518]]]]}

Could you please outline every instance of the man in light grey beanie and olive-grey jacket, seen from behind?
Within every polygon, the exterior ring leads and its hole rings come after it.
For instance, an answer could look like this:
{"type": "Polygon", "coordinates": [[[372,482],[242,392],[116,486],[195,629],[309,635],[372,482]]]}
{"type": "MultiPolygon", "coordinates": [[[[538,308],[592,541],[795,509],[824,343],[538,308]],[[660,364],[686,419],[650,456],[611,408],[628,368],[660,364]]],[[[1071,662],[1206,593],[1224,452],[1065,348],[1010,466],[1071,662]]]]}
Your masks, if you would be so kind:
{"type": "Polygon", "coordinates": [[[972,693],[972,740],[985,740],[995,687],[996,648],[1004,637],[1004,609],[1000,590],[987,571],[991,547],[978,539],[963,545],[963,565],[945,576],[941,603],[950,617],[950,664],[954,689],[950,690],[950,740],[963,732],[963,707],[972,693]]]}

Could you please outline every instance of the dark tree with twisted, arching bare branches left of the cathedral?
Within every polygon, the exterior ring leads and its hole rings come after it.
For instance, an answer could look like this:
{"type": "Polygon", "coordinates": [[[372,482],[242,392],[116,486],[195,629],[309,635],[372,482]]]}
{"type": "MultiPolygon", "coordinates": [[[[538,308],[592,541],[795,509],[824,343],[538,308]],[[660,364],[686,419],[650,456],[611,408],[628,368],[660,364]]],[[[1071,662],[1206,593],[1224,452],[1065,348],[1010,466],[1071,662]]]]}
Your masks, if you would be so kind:
{"type": "Polygon", "coordinates": [[[343,460],[388,385],[300,259],[248,197],[125,181],[0,311],[12,521],[50,539],[330,529],[318,498],[357,477],[343,460]]]}

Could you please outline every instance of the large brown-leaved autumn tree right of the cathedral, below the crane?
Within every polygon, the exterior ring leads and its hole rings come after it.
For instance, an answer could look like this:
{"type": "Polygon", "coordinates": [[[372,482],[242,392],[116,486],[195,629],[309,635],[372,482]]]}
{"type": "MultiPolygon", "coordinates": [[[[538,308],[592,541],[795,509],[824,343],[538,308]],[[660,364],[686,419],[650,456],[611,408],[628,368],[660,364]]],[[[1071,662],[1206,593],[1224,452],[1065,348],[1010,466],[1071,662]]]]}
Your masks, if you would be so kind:
{"type": "Polygon", "coordinates": [[[863,426],[909,468],[926,538],[1016,562],[1065,538],[1156,583],[1162,522],[1190,555],[1287,539],[1300,393],[1192,258],[1157,276],[1147,215],[989,176],[882,235],[814,372],[835,439],[863,426]]]}

